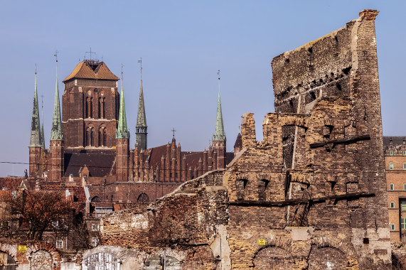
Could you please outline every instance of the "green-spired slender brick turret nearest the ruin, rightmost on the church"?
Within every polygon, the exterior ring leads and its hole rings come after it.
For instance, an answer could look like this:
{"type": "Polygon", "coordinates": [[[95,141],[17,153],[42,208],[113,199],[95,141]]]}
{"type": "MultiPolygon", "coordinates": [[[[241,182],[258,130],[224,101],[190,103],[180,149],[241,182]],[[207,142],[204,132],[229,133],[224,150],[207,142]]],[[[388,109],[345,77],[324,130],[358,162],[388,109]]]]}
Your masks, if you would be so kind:
{"type": "Polygon", "coordinates": [[[213,135],[213,152],[217,153],[216,168],[225,168],[225,132],[223,124],[223,113],[221,112],[220,101],[220,70],[218,74],[218,102],[217,117],[215,119],[215,132],[213,135]]]}

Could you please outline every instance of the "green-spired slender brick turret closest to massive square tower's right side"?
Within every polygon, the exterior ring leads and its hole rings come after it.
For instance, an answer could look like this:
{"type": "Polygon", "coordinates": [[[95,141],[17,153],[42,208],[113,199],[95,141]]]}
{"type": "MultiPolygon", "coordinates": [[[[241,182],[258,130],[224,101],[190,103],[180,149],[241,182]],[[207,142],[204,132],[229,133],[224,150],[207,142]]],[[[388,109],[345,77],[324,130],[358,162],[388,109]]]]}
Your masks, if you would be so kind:
{"type": "Polygon", "coordinates": [[[116,130],[116,177],[117,181],[128,181],[129,168],[129,130],[125,114],[123,76],[120,97],[119,122],[116,130]]]}

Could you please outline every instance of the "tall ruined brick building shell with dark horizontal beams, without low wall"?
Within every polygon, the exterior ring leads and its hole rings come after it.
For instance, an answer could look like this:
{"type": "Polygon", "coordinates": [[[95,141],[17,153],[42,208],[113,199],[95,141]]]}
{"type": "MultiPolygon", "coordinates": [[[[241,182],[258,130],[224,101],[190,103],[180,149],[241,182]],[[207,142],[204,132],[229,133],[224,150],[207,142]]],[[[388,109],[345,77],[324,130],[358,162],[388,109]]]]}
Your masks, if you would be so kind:
{"type": "Polygon", "coordinates": [[[377,13],[272,60],[277,113],[226,173],[233,268],[389,266],[377,13]]]}

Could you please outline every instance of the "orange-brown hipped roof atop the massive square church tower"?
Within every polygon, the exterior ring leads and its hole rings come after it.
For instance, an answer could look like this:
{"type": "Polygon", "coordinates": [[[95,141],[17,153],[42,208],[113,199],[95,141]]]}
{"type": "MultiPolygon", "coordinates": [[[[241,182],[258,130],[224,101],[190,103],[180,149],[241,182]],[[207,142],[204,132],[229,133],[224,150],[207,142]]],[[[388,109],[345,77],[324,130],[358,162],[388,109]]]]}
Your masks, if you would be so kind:
{"type": "Polygon", "coordinates": [[[63,82],[72,79],[119,80],[119,77],[114,75],[104,62],[84,60],[76,66],[63,82]]]}

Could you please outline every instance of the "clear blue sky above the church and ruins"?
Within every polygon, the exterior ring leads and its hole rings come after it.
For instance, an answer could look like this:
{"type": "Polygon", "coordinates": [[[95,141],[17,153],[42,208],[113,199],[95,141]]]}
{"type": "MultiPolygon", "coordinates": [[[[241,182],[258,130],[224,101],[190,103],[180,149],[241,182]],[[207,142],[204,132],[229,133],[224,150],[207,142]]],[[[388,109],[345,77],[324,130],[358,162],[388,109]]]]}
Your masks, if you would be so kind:
{"type": "MultiPolygon", "coordinates": [[[[3,1],[0,9],[0,161],[28,163],[38,67],[48,147],[55,91],[55,50],[62,80],[92,48],[119,76],[124,65],[127,122],[134,147],[139,63],[149,147],[176,140],[201,151],[214,132],[217,70],[223,119],[232,151],[241,115],[274,112],[272,58],[346,25],[363,9],[375,20],[384,135],[406,134],[405,1],[3,1]]],[[[88,54],[87,54],[88,55],[88,54]]],[[[26,165],[0,163],[0,176],[26,165]]]]}

